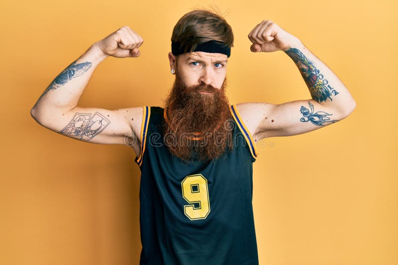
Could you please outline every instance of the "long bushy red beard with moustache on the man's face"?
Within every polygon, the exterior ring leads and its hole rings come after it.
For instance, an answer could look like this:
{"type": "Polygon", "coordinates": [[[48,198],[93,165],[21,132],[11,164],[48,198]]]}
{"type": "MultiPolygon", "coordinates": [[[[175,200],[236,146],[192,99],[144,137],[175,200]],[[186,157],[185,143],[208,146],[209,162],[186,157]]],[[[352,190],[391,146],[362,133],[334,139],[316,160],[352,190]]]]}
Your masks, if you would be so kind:
{"type": "Polygon", "coordinates": [[[211,85],[186,87],[176,73],[165,100],[164,142],[172,154],[186,162],[208,161],[232,149],[232,116],[225,87],[226,78],[220,89],[211,85]]]}

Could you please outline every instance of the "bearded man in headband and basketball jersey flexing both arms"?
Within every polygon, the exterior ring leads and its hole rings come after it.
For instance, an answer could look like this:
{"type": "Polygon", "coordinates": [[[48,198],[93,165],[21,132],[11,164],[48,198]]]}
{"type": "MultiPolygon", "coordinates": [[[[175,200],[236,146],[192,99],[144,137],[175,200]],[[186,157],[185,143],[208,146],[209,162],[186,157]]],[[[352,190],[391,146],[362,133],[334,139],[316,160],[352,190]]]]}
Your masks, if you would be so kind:
{"type": "Polygon", "coordinates": [[[102,60],[140,55],[143,39],[124,26],[62,71],[31,110],[38,123],[63,135],[133,148],[141,169],[140,264],[258,264],[255,142],[325,127],[355,108],[338,77],[274,22],[263,20],[248,37],[252,52],[291,57],[312,99],[230,105],[225,87],[232,29],[220,15],[194,10],[173,30],[169,61],[176,79],[165,108],[77,106],[102,60]]]}

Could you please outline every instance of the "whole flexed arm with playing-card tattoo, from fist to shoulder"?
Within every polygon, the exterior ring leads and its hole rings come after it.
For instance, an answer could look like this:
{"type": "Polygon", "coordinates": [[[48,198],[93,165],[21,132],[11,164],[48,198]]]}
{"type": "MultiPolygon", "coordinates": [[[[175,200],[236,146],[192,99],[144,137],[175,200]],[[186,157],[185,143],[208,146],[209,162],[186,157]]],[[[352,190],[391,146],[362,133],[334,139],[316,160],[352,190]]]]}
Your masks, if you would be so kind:
{"type": "Polygon", "coordinates": [[[106,57],[138,57],[141,37],[122,27],[91,46],[45,89],[31,109],[42,126],[78,140],[127,144],[139,155],[143,108],[106,110],[81,108],[78,101],[94,69],[106,57]],[[132,41],[134,40],[134,41],[132,41]]]}

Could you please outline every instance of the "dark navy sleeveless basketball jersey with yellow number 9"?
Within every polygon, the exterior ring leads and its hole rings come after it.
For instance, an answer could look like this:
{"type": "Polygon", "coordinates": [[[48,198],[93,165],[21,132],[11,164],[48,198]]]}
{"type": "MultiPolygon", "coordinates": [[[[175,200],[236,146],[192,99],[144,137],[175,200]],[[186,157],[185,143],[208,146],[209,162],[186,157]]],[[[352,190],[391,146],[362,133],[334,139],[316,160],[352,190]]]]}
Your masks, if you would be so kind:
{"type": "Polygon", "coordinates": [[[144,106],[140,265],[258,265],[253,218],[255,143],[235,105],[232,151],[187,163],[164,143],[166,111],[144,106]]]}

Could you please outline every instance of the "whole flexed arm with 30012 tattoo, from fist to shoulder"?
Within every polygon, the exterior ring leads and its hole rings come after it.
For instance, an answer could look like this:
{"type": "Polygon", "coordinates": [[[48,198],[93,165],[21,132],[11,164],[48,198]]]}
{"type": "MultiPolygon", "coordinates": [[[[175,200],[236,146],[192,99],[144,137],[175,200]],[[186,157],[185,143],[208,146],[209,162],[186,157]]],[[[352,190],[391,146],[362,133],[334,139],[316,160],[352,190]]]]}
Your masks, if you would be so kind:
{"type": "Polygon", "coordinates": [[[356,103],[348,89],[298,38],[270,20],[258,24],[248,37],[252,52],[284,51],[298,66],[312,97],[283,104],[237,104],[256,140],[307,133],[338,122],[354,110],[356,103]]]}

